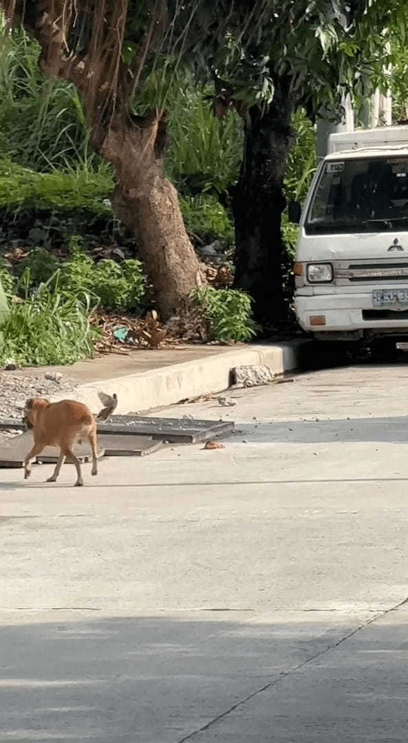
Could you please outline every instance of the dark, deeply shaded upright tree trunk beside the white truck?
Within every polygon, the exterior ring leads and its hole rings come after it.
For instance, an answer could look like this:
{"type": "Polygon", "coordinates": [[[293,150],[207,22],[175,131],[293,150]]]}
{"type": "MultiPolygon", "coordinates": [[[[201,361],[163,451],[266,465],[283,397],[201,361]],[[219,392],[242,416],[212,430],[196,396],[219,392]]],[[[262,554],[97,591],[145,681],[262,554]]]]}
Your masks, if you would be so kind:
{"type": "Polygon", "coordinates": [[[243,164],[233,194],[235,285],[252,296],[254,317],[264,327],[281,322],[288,314],[280,223],[286,207],[283,177],[292,137],[291,114],[286,80],[276,82],[267,111],[249,109],[243,164]]]}

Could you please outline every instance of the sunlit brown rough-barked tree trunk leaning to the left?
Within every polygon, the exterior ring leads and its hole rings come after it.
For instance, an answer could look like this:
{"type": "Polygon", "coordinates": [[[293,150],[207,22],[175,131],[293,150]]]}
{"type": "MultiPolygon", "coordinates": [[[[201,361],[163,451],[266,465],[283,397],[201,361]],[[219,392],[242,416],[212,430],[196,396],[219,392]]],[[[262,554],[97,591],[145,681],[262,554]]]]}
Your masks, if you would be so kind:
{"type": "Polygon", "coordinates": [[[117,115],[99,152],[115,168],[113,210],[136,238],[160,317],[166,320],[204,279],[185,231],[177,191],[164,175],[157,145],[164,127],[155,118],[132,122],[117,115]]]}

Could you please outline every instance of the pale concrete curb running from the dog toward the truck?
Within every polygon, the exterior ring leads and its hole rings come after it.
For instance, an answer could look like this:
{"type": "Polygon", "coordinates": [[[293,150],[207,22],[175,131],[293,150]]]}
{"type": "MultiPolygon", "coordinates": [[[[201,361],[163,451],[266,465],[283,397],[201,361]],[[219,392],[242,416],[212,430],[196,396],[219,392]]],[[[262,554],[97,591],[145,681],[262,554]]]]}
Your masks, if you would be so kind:
{"type": "Polygon", "coordinates": [[[97,412],[101,408],[98,392],[106,392],[108,395],[116,392],[119,401],[116,413],[125,415],[128,412],[148,411],[173,405],[185,398],[223,392],[228,389],[230,372],[234,366],[262,364],[269,366],[273,374],[296,369],[299,366],[300,349],[305,343],[307,341],[298,340],[234,348],[203,359],[83,384],[76,389],[74,397],[88,405],[92,412],[97,412]]]}

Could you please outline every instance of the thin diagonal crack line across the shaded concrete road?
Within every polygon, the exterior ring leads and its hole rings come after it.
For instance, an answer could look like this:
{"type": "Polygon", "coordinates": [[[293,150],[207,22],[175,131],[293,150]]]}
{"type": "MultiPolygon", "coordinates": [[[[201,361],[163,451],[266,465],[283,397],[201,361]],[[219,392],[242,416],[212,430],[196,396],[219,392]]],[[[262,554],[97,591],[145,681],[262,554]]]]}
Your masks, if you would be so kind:
{"type": "Polygon", "coordinates": [[[395,604],[395,606],[391,606],[389,609],[386,609],[385,611],[381,611],[378,614],[375,615],[375,617],[372,617],[366,622],[363,622],[358,627],[355,627],[355,629],[352,629],[350,632],[348,632],[343,637],[340,637],[340,640],[338,640],[336,643],[333,643],[332,645],[328,645],[327,647],[319,650],[319,652],[315,653],[315,655],[311,655],[310,658],[306,658],[306,661],[302,661],[302,663],[298,663],[297,666],[293,666],[288,671],[282,671],[280,672],[280,675],[277,678],[274,678],[272,681],[268,681],[267,684],[264,684],[263,687],[260,687],[260,689],[256,689],[254,692],[251,692],[248,696],[246,696],[243,699],[240,699],[240,701],[237,701],[235,704],[232,704],[231,707],[228,708],[223,713],[220,713],[220,715],[217,715],[212,720],[209,720],[205,725],[202,727],[197,728],[197,730],[193,730],[192,733],[188,733],[187,736],[184,738],[181,738],[177,743],[185,743],[185,741],[189,741],[194,738],[194,736],[199,735],[200,733],[205,732],[205,730],[209,730],[210,727],[212,727],[217,722],[220,722],[221,720],[225,719],[235,710],[239,709],[243,706],[243,704],[246,704],[248,701],[251,701],[254,697],[256,697],[259,694],[263,694],[263,692],[266,692],[269,689],[273,689],[274,687],[277,687],[278,684],[280,684],[280,681],[283,681],[284,678],[288,678],[288,676],[291,676],[294,673],[297,673],[297,671],[300,671],[304,668],[304,666],[309,665],[309,663],[312,663],[312,661],[316,661],[317,658],[320,658],[322,655],[325,655],[326,652],[330,652],[331,650],[335,650],[340,645],[346,642],[346,640],[349,640],[350,637],[354,637],[358,634],[358,632],[361,632],[362,629],[366,629],[366,627],[369,627],[370,625],[377,622],[379,619],[383,619],[386,617],[387,614],[390,614],[392,611],[398,611],[398,609],[401,609],[401,606],[404,606],[404,604],[408,603],[408,597],[404,600],[400,601],[398,604],[395,604]]]}

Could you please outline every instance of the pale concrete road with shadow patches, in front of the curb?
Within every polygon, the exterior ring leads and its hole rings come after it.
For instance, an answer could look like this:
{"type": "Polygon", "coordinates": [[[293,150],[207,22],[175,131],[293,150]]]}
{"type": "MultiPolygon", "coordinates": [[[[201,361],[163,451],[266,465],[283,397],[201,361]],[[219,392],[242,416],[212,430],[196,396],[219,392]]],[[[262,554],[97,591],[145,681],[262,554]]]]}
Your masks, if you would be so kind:
{"type": "Polygon", "coordinates": [[[0,741],[403,742],[408,367],[177,406],[225,449],[0,484],[0,741]]]}

